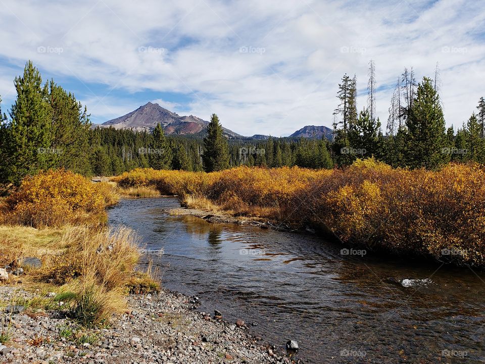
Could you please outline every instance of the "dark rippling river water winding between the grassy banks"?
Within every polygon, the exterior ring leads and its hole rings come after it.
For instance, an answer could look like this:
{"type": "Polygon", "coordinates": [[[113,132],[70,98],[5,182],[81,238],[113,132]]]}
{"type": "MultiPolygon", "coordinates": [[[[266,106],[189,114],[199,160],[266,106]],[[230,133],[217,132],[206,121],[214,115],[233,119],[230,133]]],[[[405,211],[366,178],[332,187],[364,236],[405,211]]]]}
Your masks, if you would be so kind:
{"type": "Polygon", "coordinates": [[[257,324],[250,330],[277,347],[297,340],[305,363],[485,362],[483,272],[343,255],[312,235],[169,216],[167,207],[179,204],[122,200],[109,222],[140,235],[166,288],[257,324]]]}

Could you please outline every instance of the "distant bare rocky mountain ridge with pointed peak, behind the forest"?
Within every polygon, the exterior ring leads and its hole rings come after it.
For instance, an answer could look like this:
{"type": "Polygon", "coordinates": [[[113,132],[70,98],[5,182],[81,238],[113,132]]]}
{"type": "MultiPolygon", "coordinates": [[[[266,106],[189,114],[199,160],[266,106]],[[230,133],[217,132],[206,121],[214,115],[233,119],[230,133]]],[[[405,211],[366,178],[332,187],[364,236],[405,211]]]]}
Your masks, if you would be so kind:
{"type": "MultiPolygon", "coordinates": [[[[205,133],[209,121],[203,120],[197,116],[180,116],[170,110],[161,107],[159,104],[148,102],[138,109],[129,112],[126,115],[108,120],[93,127],[114,127],[115,129],[131,129],[134,131],[151,131],[160,123],[165,134],[177,135],[194,135],[205,133]]],[[[224,134],[228,138],[243,140],[267,140],[269,135],[255,134],[253,136],[243,136],[232,130],[223,127],[224,134]]],[[[289,135],[289,138],[322,138],[324,135],[327,139],[332,138],[332,129],[326,126],[307,125],[300,130],[289,135]]]]}

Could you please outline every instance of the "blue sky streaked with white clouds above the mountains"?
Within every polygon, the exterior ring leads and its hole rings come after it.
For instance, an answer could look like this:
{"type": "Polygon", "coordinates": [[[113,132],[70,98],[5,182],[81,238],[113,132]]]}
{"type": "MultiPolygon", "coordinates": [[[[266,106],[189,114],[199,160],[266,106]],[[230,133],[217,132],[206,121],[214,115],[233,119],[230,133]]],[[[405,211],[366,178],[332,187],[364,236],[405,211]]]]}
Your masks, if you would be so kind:
{"type": "Polygon", "coordinates": [[[331,127],[338,82],[357,76],[367,106],[369,60],[384,130],[404,68],[439,63],[447,125],[485,96],[485,1],[0,0],[2,110],[32,60],[102,123],[158,103],[243,135],[331,127]]]}

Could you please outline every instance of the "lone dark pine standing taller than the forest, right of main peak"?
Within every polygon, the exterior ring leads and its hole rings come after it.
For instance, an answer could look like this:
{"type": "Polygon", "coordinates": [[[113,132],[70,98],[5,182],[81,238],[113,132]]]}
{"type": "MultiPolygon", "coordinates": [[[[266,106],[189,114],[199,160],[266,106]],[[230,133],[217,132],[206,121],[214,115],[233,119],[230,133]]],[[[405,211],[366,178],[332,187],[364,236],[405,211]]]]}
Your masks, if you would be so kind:
{"type": "Polygon", "coordinates": [[[211,116],[211,122],[207,126],[207,136],[204,138],[203,145],[202,162],[206,172],[229,168],[229,147],[216,114],[211,116]]]}

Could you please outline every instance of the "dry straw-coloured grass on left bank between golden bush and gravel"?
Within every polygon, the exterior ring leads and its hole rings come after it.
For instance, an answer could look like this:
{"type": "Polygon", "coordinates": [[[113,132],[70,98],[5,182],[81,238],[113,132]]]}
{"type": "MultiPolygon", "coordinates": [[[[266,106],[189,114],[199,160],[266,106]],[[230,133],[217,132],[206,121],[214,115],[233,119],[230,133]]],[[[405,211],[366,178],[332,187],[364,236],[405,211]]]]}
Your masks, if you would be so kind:
{"type": "MultiPolygon", "coordinates": [[[[121,314],[128,292],[160,289],[149,274],[150,268],[147,272],[135,270],[140,249],[136,235],[128,229],[0,226],[0,252],[2,264],[25,256],[41,258],[40,268],[26,269],[22,276],[24,288],[59,292],[67,303],[65,309],[83,325],[121,314]]],[[[15,283],[15,279],[9,283],[15,283]]]]}

